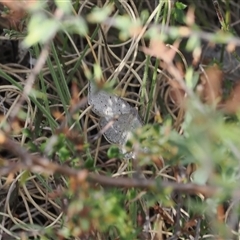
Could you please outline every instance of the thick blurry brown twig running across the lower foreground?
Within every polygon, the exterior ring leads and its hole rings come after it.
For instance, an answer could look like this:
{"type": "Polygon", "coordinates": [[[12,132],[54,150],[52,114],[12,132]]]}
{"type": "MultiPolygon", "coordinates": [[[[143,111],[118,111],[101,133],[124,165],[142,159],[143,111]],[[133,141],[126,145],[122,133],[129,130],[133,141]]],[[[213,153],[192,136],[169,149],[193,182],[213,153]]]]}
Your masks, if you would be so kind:
{"type": "MultiPolygon", "coordinates": [[[[222,188],[220,187],[203,186],[192,183],[183,184],[175,182],[162,182],[160,179],[148,180],[141,178],[112,178],[108,176],[97,175],[95,173],[88,173],[87,170],[78,171],[67,166],[61,166],[59,164],[53,163],[47,158],[30,154],[24,147],[22,147],[16,141],[7,137],[2,131],[0,131],[0,147],[11,151],[21,160],[20,163],[16,163],[15,168],[13,168],[12,164],[10,165],[11,167],[9,169],[11,171],[24,167],[25,169],[33,172],[40,171],[44,172],[45,174],[59,173],[68,177],[76,178],[77,181],[87,180],[90,183],[98,183],[106,187],[135,187],[140,189],[147,189],[154,192],[163,192],[166,189],[172,189],[178,193],[200,193],[205,197],[212,197],[222,191],[222,188]]],[[[4,173],[7,174],[6,168],[4,173]]],[[[234,194],[240,196],[240,191],[234,194]]]]}

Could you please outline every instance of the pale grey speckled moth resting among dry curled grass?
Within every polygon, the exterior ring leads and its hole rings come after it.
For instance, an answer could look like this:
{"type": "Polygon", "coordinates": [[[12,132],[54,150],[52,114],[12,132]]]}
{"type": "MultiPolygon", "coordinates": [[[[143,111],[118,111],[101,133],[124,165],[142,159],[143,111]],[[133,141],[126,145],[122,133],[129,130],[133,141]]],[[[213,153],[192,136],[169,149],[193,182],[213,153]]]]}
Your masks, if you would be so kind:
{"type": "Polygon", "coordinates": [[[88,103],[92,111],[100,116],[99,126],[105,139],[123,149],[131,133],[143,125],[137,110],[128,102],[114,94],[97,90],[93,82],[89,83],[88,103]]]}

